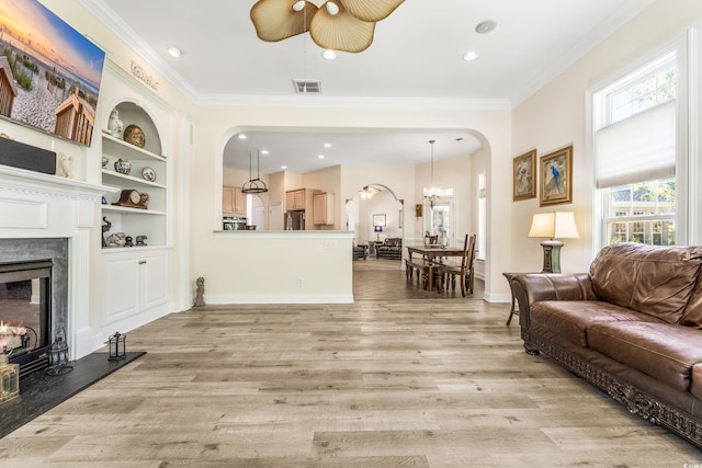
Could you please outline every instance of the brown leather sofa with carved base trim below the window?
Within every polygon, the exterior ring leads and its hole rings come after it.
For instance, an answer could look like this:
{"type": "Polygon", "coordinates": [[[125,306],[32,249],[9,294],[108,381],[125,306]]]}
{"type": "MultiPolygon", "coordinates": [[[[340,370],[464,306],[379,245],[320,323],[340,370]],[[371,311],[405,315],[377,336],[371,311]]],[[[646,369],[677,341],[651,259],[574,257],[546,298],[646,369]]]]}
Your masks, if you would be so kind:
{"type": "Polygon", "coordinates": [[[701,266],[702,247],[620,243],[589,273],[514,275],[524,349],[702,447],[701,266]]]}

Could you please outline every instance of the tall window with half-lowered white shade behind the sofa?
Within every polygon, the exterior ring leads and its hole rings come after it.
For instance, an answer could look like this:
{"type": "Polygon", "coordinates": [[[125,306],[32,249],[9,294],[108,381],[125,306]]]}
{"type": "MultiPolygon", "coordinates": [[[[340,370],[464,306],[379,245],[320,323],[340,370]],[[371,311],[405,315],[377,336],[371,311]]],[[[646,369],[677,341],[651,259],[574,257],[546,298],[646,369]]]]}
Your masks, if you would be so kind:
{"type": "Polygon", "coordinates": [[[593,95],[602,246],[676,243],[676,53],[593,95]]]}

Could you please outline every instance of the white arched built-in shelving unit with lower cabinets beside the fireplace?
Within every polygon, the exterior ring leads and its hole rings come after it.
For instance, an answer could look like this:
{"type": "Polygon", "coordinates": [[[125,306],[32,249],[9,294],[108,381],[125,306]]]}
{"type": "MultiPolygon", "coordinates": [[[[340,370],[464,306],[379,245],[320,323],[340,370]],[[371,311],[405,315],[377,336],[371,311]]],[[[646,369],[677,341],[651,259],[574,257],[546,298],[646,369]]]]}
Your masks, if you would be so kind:
{"type": "Polygon", "coordinates": [[[101,132],[103,167],[102,185],[106,187],[101,217],[112,224],[104,235],[124,232],[133,247],[103,247],[102,249],[102,307],[103,330],[131,330],[168,312],[170,300],[170,237],[169,217],[169,159],[162,150],[172,125],[170,115],[146,95],[134,93],[128,80],[114,83],[115,92],[125,98],[115,99],[113,110],[124,128],[138,126],[144,133],[144,146],[124,141],[122,134],[110,132],[110,124],[101,132]],[[122,91],[118,91],[122,90],[122,91]],[[144,103],[145,107],[139,105],[144,103]],[[158,126],[157,124],[158,123],[158,126]],[[163,135],[159,129],[163,128],[163,135]],[[163,140],[162,140],[163,138],[163,140]],[[128,174],[118,172],[115,162],[129,162],[128,174]],[[143,175],[147,168],[148,174],[143,175]],[[148,194],[146,209],[115,206],[122,191],[148,194]],[[144,240],[144,244],[138,241],[144,240]]]}

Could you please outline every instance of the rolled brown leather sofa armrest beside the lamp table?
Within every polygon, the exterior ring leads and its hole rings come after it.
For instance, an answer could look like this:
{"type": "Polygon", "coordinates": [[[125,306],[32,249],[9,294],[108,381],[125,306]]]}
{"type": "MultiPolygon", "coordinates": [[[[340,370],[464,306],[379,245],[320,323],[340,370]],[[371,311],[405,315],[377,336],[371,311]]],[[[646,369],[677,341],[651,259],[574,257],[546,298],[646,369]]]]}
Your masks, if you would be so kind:
{"type": "Polygon", "coordinates": [[[530,305],[540,300],[597,300],[590,275],[587,273],[516,274],[510,281],[512,295],[519,305],[519,324],[526,352],[534,351],[530,343],[530,305]]]}

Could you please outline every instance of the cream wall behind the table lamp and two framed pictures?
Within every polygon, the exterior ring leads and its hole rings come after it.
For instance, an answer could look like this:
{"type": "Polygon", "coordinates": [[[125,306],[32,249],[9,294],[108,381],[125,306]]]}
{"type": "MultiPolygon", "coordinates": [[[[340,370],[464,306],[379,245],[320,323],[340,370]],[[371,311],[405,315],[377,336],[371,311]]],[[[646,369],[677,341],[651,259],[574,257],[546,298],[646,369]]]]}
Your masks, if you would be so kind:
{"type": "MultiPolygon", "coordinates": [[[[702,21],[702,2],[687,0],[658,1],[603,41],[590,54],[565,70],[513,111],[512,157],[536,148],[543,156],[573,145],[573,203],[541,208],[539,198],[514,202],[509,229],[513,271],[540,271],[540,239],[526,237],[534,213],[574,210],[580,239],[564,240],[564,272],[587,271],[592,251],[592,155],[586,148],[586,92],[588,88],[621,70],[627,64],[669,44],[688,26],[702,21]]],[[[698,52],[699,54],[699,52],[698,52]]],[[[699,60],[699,57],[697,57],[699,60]]],[[[699,109],[699,107],[698,107],[699,109]]],[[[698,152],[699,155],[699,152],[698,152]]],[[[509,196],[511,184],[501,191],[509,196]]],[[[497,195],[494,192],[494,195],[497,195]]],[[[698,239],[698,242],[700,239],[698,239]]]]}

